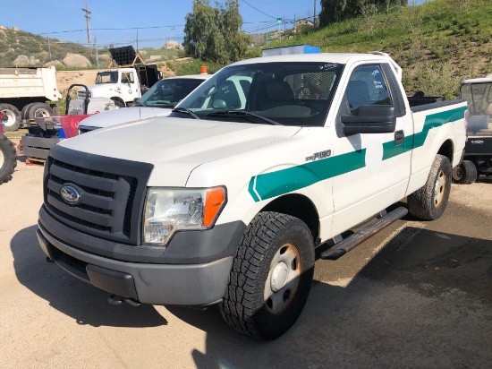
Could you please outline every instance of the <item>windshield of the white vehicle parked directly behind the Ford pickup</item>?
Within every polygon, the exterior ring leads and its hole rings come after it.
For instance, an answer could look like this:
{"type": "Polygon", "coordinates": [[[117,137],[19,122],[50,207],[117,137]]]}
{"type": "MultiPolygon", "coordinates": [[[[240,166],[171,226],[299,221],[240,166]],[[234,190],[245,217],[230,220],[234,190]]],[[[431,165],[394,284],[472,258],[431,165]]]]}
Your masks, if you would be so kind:
{"type": "Polygon", "coordinates": [[[203,80],[197,78],[161,80],[145,92],[135,105],[142,107],[175,107],[202,82],[203,80]]]}

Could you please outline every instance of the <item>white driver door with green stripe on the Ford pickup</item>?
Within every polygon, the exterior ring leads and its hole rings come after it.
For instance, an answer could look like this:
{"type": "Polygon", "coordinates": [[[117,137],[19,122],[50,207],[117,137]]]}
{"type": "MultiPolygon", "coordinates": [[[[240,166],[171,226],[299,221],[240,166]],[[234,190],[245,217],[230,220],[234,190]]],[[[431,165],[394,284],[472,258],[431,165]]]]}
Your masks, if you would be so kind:
{"type": "Polygon", "coordinates": [[[333,235],[398,202],[408,184],[413,127],[388,64],[360,64],[352,70],[336,124],[334,152],[342,174],[334,178],[333,235]],[[340,116],[358,115],[359,107],[368,105],[395,107],[394,132],[345,135],[340,116]]]}

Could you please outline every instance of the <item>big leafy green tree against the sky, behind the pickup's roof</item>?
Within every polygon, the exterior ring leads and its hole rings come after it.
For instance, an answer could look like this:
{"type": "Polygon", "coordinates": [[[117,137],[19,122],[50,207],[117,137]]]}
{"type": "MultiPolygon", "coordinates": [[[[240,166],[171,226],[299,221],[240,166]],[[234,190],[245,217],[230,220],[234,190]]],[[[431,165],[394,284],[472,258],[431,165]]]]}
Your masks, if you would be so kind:
{"type": "Polygon", "coordinates": [[[184,42],[187,56],[225,64],[246,55],[250,38],[239,31],[242,16],[235,0],[210,6],[209,0],[195,0],[186,14],[184,42]]]}

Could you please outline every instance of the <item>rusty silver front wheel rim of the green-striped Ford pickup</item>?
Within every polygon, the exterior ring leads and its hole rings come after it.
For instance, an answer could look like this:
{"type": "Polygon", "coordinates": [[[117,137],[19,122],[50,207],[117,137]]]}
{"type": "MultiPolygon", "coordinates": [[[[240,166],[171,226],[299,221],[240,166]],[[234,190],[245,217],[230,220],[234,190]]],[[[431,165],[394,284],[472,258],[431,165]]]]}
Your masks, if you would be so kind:
{"type": "Polygon", "coordinates": [[[265,305],[270,313],[282,313],[291,303],[301,277],[301,255],[292,244],[276,252],[265,283],[265,305]]]}

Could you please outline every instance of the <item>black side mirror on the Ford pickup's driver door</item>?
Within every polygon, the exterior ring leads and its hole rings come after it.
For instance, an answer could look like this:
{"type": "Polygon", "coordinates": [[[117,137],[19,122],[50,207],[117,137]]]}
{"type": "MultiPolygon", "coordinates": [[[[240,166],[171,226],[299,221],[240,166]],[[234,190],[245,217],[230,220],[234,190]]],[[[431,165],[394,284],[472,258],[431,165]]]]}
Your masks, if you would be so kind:
{"type": "Polygon", "coordinates": [[[366,105],[359,107],[357,115],[341,116],[346,136],[357,133],[392,133],[396,116],[392,105],[366,105]]]}

